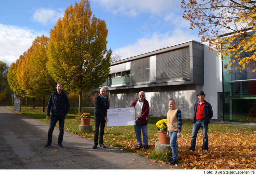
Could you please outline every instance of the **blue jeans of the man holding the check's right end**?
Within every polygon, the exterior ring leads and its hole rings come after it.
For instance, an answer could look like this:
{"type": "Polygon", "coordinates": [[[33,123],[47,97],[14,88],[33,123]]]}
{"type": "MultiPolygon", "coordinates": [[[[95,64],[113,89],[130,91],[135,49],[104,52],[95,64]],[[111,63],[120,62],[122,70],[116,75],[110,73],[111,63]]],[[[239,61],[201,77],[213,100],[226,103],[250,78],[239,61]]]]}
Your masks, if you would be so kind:
{"type": "Polygon", "coordinates": [[[148,146],[148,136],[147,136],[147,125],[140,126],[140,122],[135,122],[136,125],[134,125],[134,131],[137,137],[138,146],[142,147],[142,140],[141,140],[141,131],[143,135],[143,143],[144,147],[148,146]]]}

